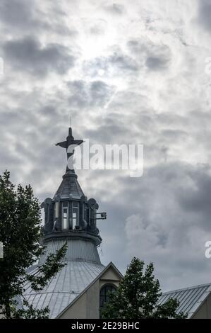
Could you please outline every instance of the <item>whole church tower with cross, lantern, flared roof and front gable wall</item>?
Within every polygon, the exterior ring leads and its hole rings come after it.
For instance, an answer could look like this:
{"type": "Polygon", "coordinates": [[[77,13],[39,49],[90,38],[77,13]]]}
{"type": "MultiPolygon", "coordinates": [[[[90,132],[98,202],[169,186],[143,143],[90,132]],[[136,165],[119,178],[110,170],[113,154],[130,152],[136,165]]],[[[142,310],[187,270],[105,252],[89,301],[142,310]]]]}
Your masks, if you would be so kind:
{"type": "Polygon", "coordinates": [[[30,283],[25,285],[24,298],[37,309],[48,306],[50,318],[99,317],[100,307],[122,277],[112,262],[107,266],[101,264],[97,247],[102,238],[97,220],[104,220],[107,215],[98,213],[97,201],[85,196],[69,163],[74,147],[82,143],[83,140],[74,139],[71,128],[66,141],[57,143],[66,149],[68,164],[54,197],[42,203],[46,251],[30,273],[39,274],[39,266],[47,256],[67,243],[65,266],[41,291],[32,290],[30,283]]]}

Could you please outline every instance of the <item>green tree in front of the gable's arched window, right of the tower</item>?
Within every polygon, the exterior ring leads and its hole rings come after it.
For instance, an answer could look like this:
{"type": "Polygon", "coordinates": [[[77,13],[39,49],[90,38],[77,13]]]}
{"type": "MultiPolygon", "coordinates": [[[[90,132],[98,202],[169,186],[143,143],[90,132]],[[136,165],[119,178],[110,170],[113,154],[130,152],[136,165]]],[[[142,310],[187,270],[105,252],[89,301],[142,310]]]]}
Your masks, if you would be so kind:
{"type": "Polygon", "coordinates": [[[150,263],[144,271],[145,263],[133,258],[125,276],[115,293],[101,310],[101,317],[107,319],[147,319],[182,318],[183,312],[176,313],[179,302],[169,299],[163,305],[157,305],[162,293],[159,281],[153,275],[154,267],[150,263]]]}

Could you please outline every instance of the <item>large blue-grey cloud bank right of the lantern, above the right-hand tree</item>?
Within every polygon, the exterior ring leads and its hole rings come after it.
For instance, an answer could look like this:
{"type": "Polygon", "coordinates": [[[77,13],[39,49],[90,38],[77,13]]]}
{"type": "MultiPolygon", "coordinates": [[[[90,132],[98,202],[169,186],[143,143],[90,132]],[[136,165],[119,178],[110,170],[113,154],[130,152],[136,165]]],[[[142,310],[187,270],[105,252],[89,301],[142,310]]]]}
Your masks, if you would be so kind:
{"type": "Polygon", "coordinates": [[[190,278],[193,284],[209,281],[205,242],[210,239],[210,166],[162,163],[148,168],[138,179],[121,176],[119,171],[90,171],[90,177],[100,180],[88,190],[95,193],[97,187],[100,207],[108,214],[107,222],[100,225],[104,255],[112,254],[122,271],[122,257],[129,261],[139,256],[154,262],[165,290],[190,286],[190,278]],[[115,195],[111,188],[116,186],[115,195]],[[207,198],[205,203],[200,197],[207,198]],[[116,233],[119,237],[115,239],[116,233]],[[111,242],[109,235],[114,237],[111,242]],[[115,254],[117,248],[121,256],[115,254]],[[200,273],[195,274],[199,267],[200,273]]]}

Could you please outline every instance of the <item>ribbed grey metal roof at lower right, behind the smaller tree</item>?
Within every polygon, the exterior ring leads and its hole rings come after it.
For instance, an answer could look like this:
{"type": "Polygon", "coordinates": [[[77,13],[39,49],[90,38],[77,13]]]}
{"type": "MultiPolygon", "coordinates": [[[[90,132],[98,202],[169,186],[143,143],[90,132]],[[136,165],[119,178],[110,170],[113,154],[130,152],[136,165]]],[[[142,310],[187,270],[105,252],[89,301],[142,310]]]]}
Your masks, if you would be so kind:
{"type": "Polygon", "coordinates": [[[198,307],[200,307],[200,305],[202,305],[205,301],[210,292],[211,283],[168,291],[167,293],[162,294],[158,304],[167,302],[169,298],[176,298],[180,303],[177,312],[183,311],[188,314],[188,318],[191,318],[198,310],[198,307]]]}

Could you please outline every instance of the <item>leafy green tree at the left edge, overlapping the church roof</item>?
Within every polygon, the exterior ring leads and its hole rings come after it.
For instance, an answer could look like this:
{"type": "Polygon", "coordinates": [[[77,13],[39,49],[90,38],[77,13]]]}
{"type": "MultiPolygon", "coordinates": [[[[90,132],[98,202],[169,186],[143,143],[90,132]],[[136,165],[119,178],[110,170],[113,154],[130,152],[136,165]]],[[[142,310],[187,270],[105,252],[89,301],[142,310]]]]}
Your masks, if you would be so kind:
{"type": "Polygon", "coordinates": [[[10,173],[0,176],[0,242],[4,244],[4,257],[0,259],[0,312],[6,318],[48,317],[48,308],[35,310],[24,300],[24,285],[30,281],[34,290],[42,290],[49,280],[64,266],[66,244],[56,254],[50,254],[37,274],[27,269],[44,253],[40,244],[40,203],[31,186],[11,183],[10,173]],[[23,298],[25,310],[16,310],[17,296],[23,298]]]}

